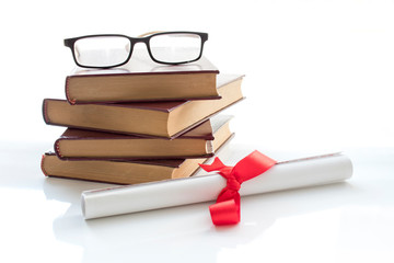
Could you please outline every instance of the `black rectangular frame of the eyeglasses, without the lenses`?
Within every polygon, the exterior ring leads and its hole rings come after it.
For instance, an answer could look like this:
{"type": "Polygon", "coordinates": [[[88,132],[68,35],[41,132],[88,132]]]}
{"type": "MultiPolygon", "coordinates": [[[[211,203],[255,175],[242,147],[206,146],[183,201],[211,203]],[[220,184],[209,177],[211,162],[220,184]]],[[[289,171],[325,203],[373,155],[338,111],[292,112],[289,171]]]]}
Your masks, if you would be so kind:
{"type": "Polygon", "coordinates": [[[131,54],[132,54],[132,50],[134,50],[134,46],[137,44],[137,43],[144,43],[146,46],[147,46],[147,49],[148,49],[148,53],[149,53],[149,56],[150,58],[158,62],[158,64],[164,64],[164,65],[179,65],[179,64],[188,64],[188,62],[194,62],[194,61],[197,61],[198,59],[201,58],[202,56],[202,49],[204,49],[204,44],[205,42],[208,41],[208,33],[202,33],[202,32],[188,32],[188,31],[172,31],[172,32],[160,32],[160,33],[153,33],[151,35],[148,35],[148,36],[144,36],[144,37],[130,37],[130,36],[127,36],[127,35],[121,35],[121,34],[97,34],[97,35],[84,35],[84,36],[79,36],[79,37],[72,37],[72,38],[66,38],[65,39],[65,46],[69,47],[71,49],[71,53],[72,53],[72,58],[74,60],[74,62],[79,66],[79,67],[82,67],[82,68],[115,68],[115,67],[119,67],[119,66],[123,66],[125,64],[127,64],[130,58],[131,58],[131,54]],[[195,59],[192,59],[192,60],[187,60],[187,61],[181,61],[181,62],[167,62],[167,61],[161,61],[161,60],[158,60],[153,57],[152,55],[152,52],[150,49],[150,39],[154,36],[158,36],[158,35],[170,35],[170,34],[194,34],[194,35],[198,35],[201,39],[201,47],[200,47],[200,52],[199,52],[199,55],[197,58],[195,59]],[[76,52],[74,52],[74,44],[79,39],[83,39],[83,38],[89,38],[89,37],[100,37],[100,36],[120,36],[120,37],[125,37],[127,38],[129,42],[130,42],[130,52],[129,52],[129,55],[128,57],[126,58],[126,60],[121,64],[117,64],[117,65],[112,65],[112,66],[84,66],[84,65],[81,65],[78,62],[77,60],[77,57],[76,57],[76,52]]]}

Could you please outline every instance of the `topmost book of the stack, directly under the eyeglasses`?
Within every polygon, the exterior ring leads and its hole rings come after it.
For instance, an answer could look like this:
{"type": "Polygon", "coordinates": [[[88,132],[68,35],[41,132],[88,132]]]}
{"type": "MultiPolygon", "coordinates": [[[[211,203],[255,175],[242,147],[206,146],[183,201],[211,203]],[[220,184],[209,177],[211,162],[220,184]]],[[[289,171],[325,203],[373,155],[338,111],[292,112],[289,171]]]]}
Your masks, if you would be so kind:
{"type": "Polygon", "coordinates": [[[77,68],[66,78],[66,96],[71,104],[220,99],[216,85],[218,73],[205,57],[170,66],[134,54],[119,68],[77,68]]]}

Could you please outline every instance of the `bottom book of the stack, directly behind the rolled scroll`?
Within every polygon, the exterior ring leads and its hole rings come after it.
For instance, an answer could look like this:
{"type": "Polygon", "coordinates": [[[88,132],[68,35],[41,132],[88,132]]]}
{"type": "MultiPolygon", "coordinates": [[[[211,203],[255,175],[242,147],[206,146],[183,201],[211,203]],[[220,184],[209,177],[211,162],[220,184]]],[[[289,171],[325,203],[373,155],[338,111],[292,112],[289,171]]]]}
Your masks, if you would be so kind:
{"type": "MultiPolygon", "coordinates": [[[[232,137],[228,122],[217,128],[213,136],[213,150],[218,150],[232,137]]],[[[190,176],[198,169],[198,163],[206,160],[207,158],[138,161],[60,160],[54,152],[47,152],[42,159],[42,170],[47,176],[136,184],[190,176]]]]}

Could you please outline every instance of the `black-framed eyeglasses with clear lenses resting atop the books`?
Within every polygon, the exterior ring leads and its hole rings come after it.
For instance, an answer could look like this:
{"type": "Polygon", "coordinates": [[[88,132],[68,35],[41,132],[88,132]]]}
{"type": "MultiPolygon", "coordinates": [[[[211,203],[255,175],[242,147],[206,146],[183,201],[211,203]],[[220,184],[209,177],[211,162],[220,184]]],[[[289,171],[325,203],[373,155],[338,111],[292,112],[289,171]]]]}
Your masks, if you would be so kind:
{"type": "Polygon", "coordinates": [[[129,61],[137,43],[144,43],[149,56],[158,64],[187,64],[200,59],[207,33],[153,32],[139,37],[105,34],[65,39],[76,64],[83,68],[113,68],[129,61]],[[148,35],[148,36],[147,36],[148,35]]]}

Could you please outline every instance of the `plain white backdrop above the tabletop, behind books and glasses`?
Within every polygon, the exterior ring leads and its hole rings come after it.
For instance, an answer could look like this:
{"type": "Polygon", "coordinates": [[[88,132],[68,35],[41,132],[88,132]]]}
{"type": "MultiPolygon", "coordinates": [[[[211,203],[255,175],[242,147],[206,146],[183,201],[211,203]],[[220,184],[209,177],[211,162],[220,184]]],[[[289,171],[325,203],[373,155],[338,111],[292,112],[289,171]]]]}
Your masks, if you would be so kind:
{"type": "Polygon", "coordinates": [[[364,0],[2,3],[2,137],[62,130],[40,104],[65,98],[74,65],[63,38],[187,30],[209,33],[205,55],[221,72],[246,75],[239,136],[283,149],[392,146],[393,13],[393,1],[364,0]]]}

